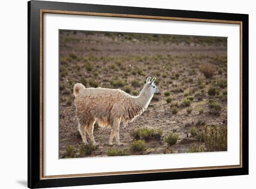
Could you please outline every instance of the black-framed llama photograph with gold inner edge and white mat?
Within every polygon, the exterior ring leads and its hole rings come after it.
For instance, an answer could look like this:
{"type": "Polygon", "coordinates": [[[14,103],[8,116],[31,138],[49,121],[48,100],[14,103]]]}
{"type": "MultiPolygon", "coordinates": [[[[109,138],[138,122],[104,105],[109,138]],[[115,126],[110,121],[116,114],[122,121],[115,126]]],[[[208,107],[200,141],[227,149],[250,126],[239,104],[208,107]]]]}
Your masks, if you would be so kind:
{"type": "Polygon", "coordinates": [[[246,175],[246,14],[28,2],[28,187],[246,175]]]}

